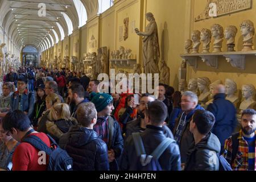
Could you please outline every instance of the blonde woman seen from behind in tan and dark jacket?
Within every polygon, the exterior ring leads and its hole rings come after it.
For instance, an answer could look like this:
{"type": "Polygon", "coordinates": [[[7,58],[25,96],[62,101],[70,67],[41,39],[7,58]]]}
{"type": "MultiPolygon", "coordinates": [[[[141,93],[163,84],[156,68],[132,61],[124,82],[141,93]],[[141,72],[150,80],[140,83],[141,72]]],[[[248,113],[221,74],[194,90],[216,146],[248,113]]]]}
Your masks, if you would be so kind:
{"type": "Polygon", "coordinates": [[[76,124],[77,121],[71,118],[67,104],[55,104],[50,109],[48,121],[46,122],[46,130],[59,143],[60,137],[64,133],[67,133],[70,127],[76,124]]]}

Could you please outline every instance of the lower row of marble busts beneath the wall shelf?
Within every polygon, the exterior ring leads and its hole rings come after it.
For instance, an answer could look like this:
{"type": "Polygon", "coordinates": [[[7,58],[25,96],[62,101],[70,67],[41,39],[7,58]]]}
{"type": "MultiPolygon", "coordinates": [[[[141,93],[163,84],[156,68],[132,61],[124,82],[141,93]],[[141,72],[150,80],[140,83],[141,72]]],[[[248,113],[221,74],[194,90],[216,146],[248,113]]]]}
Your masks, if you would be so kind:
{"type": "MultiPolygon", "coordinates": [[[[213,101],[213,90],[215,86],[222,84],[221,80],[216,80],[210,82],[208,77],[192,78],[189,80],[188,85],[185,80],[179,81],[179,89],[181,92],[185,90],[192,91],[199,96],[199,104],[204,107],[207,107],[213,101]]],[[[255,87],[252,84],[242,85],[242,97],[237,94],[237,84],[233,80],[226,78],[225,80],[226,88],[226,100],[229,100],[236,106],[238,109],[238,114],[245,109],[255,109],[256,101],[254,100],[255,96],[255,87]]]]}

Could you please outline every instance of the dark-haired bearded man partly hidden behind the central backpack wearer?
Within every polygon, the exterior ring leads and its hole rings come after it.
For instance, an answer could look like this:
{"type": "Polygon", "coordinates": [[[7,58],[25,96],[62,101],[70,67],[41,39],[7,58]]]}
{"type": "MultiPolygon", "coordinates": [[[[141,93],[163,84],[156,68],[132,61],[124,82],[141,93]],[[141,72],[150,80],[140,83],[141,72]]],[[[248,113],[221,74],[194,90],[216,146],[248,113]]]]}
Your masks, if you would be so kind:
{"type": "MultiPolygon", "coordinates": [[[[141,100],[139,102],[139,111],[138,111],[138,117],[134,121],[128,122],[126,125],[126,133],[125,133],[125,139],[127,139],[132,133],[138,133],[143,132],[146,130],[146,122],[145,122],[145,110],[146,105],[148,102],[155,101],[155,97],[150,94],[143,94],[141,97],[141,100]]],[[[164,135],[166,135],[167,138],[174,138],[174,135],[172,135],[171,130],[164,125],[163,126],[164,135]]]]}

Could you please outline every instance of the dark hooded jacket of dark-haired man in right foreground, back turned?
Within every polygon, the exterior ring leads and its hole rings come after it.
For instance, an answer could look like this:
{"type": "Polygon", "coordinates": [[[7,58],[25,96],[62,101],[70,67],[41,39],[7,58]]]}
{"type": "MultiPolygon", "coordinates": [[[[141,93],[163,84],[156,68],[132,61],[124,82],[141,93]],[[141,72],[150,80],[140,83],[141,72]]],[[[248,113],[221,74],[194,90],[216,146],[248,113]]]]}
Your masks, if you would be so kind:
{"type": "Polygon", "coordinates": [[[218,171],[220,166],[217,155],[220,150],[220,141],[212,133],[197,144],[193,142],[187,153],[185,171],[218,171]]]}

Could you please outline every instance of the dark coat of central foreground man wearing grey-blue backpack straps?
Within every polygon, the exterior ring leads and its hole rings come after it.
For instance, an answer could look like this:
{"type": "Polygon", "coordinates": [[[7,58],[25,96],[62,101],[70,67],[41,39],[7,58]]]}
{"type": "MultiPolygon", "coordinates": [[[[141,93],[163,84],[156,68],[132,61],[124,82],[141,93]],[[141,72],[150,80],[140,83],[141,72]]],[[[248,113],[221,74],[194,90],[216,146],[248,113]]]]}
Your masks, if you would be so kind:
{"type": "MultiPolygon", "coordinates": [[[[161,127],[147,125],[147,129],[141,133],[141,138],[147,155],[152,154],[156,147],[166,138],[161,127]]],[[[163,152],[159,158],[159,163],[163,171],[179,171],[181,170],[180,150],[179,146],[174,142],[163,152]]],[[[123,171],[140,171],[141,161],[137,156],[133,136],[127,138],[123,150],[121,162],[121,170],[123,171]]]]}

